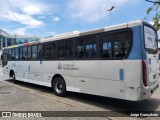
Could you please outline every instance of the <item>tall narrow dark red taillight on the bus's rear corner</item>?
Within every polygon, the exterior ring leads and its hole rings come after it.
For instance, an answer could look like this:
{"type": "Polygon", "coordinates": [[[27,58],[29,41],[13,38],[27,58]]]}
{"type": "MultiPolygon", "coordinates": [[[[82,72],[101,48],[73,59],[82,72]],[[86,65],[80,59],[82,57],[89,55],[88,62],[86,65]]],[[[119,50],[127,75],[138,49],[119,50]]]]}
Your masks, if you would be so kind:
{"type": "Polygon", "coordinates": [[[142,60],[142,69],[143,69],[143,84],[147,87],[147,67],[145,61],[142,60]]]}

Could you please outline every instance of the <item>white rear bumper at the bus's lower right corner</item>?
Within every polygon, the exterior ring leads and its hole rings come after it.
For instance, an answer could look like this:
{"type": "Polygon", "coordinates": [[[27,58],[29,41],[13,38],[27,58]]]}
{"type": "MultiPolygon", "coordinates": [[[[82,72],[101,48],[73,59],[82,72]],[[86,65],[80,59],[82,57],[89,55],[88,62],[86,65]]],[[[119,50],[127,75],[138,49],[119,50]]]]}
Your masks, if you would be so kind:
{"type": "Polygon", "coordinates": [[[141,100],[147,100],[148,98],[151,97],[153,93],[159,88],[159,82],[157,82],[154,85],[143,87],[143,88],[138,88],[138,101],[141,100]]]}

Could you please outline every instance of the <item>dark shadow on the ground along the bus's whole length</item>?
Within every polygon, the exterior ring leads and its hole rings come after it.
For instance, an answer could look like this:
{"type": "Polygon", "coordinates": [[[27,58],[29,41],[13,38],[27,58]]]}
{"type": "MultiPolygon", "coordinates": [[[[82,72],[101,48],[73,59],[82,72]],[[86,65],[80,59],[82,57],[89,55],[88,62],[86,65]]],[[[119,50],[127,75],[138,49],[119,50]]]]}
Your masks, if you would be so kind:
{"type": "MultiPolygon", "coordinates": [[[[5,80],[6,82],[11,83],[12,80],[5,80]]],[[[19,86],[31,88],[40,92],[45,93],[53,93],[52,89],[49,87],[44,87],[40,85],[35,85],[31,83],[25,82],[18,82],[19,86]]],[[[158,92],[158,91],[157,91],[158,92]]],[[[89,104],[92,106],[96,106],[99,108],[103,108],[104,110],[108,111],[118,111],[123,114],[128,114],[127,112],[145,112],[151,111],[154,112],[160,106],[160,99],[150,98],[147,101],[127,101],[109,97],[101,97],[89,94],[82,94],[82,93],[75,93],[75,92],[68,92],[65,98],[78,101],[81,103],[89,104]]]]}

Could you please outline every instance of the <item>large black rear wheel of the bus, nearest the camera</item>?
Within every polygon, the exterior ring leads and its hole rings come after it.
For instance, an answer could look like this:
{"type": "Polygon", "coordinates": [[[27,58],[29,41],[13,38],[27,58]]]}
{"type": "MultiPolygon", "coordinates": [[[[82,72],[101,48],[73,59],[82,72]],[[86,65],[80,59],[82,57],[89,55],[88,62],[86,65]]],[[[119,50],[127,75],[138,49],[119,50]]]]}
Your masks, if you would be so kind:
{"type": "Polygon", "coordinates": [[[57,96],[65,96],[66,95],[66,84],[62,77],[56,77],[53,81],[53,92],[57,96]]]}

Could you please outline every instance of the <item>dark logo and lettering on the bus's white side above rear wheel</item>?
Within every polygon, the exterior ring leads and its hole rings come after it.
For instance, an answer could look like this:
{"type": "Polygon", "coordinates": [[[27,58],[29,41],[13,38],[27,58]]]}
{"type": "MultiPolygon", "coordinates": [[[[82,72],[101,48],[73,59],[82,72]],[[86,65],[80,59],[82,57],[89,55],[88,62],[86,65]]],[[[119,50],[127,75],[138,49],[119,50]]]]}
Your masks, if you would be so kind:
{"type": "Polygon", "coordinates": [[[59,70],[79,70],[79,68],[75,67],[74,64],[58,64],[59,70]]]}

